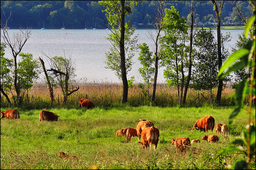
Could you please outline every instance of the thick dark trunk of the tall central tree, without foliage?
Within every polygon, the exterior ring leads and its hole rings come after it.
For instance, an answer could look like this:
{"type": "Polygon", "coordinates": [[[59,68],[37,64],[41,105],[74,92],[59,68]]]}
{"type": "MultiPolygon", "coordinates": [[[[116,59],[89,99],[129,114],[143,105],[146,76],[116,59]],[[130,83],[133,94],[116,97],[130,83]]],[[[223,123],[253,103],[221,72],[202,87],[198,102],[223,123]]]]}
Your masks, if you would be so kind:
{"type": "Polygon", "coordinates": [[[124,51],[124,1],[121,1],[121,23],[120,23],[120,57],[121,57],[121,76],[123,81],[123,96],[122,103],[125,104],[128,99],[128,82],[126,76],[126,67],[125,67],[125,51],[124,51]]]}

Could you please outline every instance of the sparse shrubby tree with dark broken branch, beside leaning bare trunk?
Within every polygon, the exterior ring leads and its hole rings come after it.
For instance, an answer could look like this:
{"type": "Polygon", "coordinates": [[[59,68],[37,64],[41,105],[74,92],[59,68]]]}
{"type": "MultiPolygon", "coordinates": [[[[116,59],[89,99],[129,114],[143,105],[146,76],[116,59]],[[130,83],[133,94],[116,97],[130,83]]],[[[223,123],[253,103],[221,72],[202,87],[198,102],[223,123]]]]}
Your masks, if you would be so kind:
{"type": "MultiPolygon", "coordinates": [[[[49,57],[48,57],[49,58],[49,57]]],[[[55,83],[59,85],[63,94],[63,104],[68,100],[68,97],[79,90],[79,86],[76,86],[74,72],[76,69],[73,67],[74,62],[71,57],[68,59],[66,57],[54,56],[50,59],[50,69],[47,69],[50,72],[50,75],[54,77],[55,83]]]]}

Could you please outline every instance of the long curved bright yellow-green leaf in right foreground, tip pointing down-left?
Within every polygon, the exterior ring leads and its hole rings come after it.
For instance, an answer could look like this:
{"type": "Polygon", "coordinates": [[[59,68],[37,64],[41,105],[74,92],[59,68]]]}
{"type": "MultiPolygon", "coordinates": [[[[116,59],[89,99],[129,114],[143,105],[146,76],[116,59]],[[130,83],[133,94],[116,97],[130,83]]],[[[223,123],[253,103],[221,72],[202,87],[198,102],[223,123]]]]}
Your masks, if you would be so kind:
{"type": "Polygon", "coordinates": [[[226,68],[230,67],[230,65],[231,65],[234,61],[236,61],[237,59],[239,59],[239,58],[241,58],[241,57],[243,57],[243,56],[245,56],[245,55],[248,55],[249,52],[250,52],[250,51],[249,51],[248,49],[242,48],[242,49],[237,50],[237,51],[235,51],[234,53],[232,53],[232,54],[228,57],[228,59],[225,61],[225,63],[221,66],[221,68],[220,68],[220,70],[219,70],[219,74],[218,74],[217,77],[219,77],[219,76],[223,73],[223,71],[224,71],[226,68]]]}

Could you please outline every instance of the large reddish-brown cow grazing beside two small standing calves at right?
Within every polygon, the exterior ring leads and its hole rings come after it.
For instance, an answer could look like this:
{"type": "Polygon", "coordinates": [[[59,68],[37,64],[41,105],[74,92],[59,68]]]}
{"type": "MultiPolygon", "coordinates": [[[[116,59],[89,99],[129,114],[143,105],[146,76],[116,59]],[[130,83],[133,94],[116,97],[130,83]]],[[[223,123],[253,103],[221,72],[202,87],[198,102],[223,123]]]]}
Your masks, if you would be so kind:
{"type": "Polygon", "coordinates": [[[198,119],[195,125],[193,126],[193,129],[192,128],[191,129],[194,130],[196,128],[196,129],[204,130],[205,132],[208,132],[208,130],[213,131],[214,124],[215,124],[214,118],[212,116],[206,116],[201,119],[198,119]]]}

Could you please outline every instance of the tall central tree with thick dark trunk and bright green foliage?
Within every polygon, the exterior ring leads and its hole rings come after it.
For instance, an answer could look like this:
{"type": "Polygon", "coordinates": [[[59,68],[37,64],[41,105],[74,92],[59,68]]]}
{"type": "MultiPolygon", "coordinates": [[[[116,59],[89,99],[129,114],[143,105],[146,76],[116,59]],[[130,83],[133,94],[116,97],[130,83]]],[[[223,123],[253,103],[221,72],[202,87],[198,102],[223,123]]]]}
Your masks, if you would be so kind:
{"type": "MultiPolygon", "coordinates": [[[[122,95],[122,103],[126,103],[128,99],[128,82],[127,82],[127,72],[126,72],[126,57],[125,54],[127,51],[125,51],[125,41],[129,42],[129,45],[132,44],[130,35],[133,34],[133,30],[130,28],[130,22],[129,24],[124,22],[124,18],[126,15],[131,14],[131,8],[133,6],[137,5],[136,1],[99,1],[99,3],[106,7],[105,10],[102,10],[102,12],[106,12],[106,17],[109,21],[109,24],[112,26],[110,37],[113,37],[112,42],[112,50],[117,49],[120,59],[118,70],[121,70],[121,78],[123,82],[123,95],[122,95]],[[116,29],[117,28],[117,29],[116,29]],[[129,31],[129,32],[127,32],[129,31]],[[115,48],[115,49],[113,49],[115,48]]],[[[128,43],[126,43],[127,45],[128,43]]],[[[129,48],[129,47],[127,47],[129,48]]],[[[112,52],[110,52],[112,53],[112,52]]],[[[108,54],[110,54],[108,53],[108,54]]],[[[113,53],[114,57],[117,58],[116,54],[113,53]]],[[[106,54],[107,57],[107,54],[106,54]]],[[[117,61],[117,60],[115,60],[117,61]]],[[[111,61],[110,61],[111,63],[111,61]]],[[[117,68],[115,69],[117,70],[117,68]]]]}

